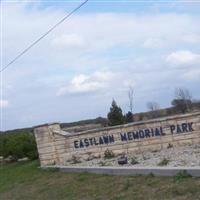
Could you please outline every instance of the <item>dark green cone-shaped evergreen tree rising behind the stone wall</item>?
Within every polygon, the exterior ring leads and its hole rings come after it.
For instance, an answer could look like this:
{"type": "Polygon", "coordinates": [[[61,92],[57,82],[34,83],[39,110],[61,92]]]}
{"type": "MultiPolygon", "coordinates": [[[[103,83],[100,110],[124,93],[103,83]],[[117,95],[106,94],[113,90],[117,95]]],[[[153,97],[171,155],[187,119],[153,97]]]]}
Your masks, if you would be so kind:
{"type": "Polygon", "coordinates": [[[110,107],[110,112],[108,113],[107,116],[110,126],[115,126],[124,123],[124,116],[122,114],[122,109],[117,105],[114,99],[110,107]]]}

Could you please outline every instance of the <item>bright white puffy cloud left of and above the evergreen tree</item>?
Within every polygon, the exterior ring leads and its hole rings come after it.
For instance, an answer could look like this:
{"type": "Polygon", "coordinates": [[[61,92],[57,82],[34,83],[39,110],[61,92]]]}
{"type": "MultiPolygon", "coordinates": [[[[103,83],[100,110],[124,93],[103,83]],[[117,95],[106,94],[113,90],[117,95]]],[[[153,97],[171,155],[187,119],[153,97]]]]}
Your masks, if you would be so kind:
{"type": "Polygon", "coordinates": [[[111,72],[97,71],[91,75],[80,74],[75,76],[66,86],[61,87],[57,95],[96,92],[106,88],[113,78],[114,74],[111,72]]]}

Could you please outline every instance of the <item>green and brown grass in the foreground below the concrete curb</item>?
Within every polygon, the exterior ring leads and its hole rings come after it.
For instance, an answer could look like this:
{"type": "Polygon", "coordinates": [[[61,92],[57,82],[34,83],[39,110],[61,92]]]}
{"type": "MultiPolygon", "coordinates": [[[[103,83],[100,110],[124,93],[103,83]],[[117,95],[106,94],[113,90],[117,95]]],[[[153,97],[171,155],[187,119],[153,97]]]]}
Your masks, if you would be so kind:
{"type": "Polygon", "coordinates": [[[38,161],[0,167],[1,200],[188,200],[200,199],[200,179],[108,176],[41,170],[38,161]],[[178,181],[176,181],[178,179],[178,181]]]}

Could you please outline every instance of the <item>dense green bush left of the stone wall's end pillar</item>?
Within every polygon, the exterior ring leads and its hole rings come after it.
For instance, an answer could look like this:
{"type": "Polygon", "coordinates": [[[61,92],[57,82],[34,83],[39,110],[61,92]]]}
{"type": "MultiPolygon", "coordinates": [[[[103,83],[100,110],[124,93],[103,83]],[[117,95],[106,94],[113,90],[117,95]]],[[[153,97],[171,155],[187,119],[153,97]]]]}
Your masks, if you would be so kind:
{"type": "Polygon", "coordinates": [[[0,135],[0,156],[12,156],[15,160],[28,157],[38,158],[35,137],[30,132],[9,133],[0,135]]]}

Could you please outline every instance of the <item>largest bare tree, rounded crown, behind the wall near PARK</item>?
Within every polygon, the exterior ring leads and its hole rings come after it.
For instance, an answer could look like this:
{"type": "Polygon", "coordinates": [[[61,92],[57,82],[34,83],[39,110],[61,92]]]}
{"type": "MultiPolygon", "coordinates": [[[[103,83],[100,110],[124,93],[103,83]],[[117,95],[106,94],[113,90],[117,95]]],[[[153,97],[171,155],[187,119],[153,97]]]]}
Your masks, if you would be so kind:
{"type": "Polygon", "coordinates": [[[172,105],[182,113],[189,111],[192,107],[192,95],[188,89],[176,88],[175,99],[172,101],[172,105]]]}

